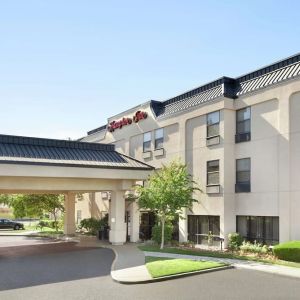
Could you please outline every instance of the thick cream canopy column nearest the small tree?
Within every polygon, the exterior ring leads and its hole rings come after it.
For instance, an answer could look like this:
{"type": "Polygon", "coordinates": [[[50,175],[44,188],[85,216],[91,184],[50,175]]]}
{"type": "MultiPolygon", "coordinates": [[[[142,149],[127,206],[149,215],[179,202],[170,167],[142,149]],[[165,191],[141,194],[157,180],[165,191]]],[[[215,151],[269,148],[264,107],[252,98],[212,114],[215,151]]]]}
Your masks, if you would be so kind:
{"type": "Polygon", "coordinates": [[[126,242],[125,198],[123,191],[112,191],[110,201],[109,241],[113,245],[126,242]]]}

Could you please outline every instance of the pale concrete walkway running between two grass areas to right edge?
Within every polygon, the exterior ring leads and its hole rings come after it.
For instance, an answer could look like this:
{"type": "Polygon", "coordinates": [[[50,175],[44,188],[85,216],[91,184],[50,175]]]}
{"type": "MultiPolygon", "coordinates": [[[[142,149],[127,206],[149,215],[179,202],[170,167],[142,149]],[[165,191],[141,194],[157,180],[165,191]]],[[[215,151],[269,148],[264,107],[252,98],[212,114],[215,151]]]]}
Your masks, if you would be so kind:
{"type": "Polygon", "coordinates": [[[230,259],[230,258],[181,255],[181,254],[161,253],[161,252],[144,252],[144,253],[145,256],[186,258],[186,259],[193,259],[193,260],[209,260],[209,261],[223,262],[223,263],[231,264],[235,268],[239,268],[239,269],[262,271],[271,274],[290,276],[290,277],[295,277],[300,279],[300,268],[286,267],[286,266],[273,265],[273,264],[264,264],[260,262],[230,259]]]}

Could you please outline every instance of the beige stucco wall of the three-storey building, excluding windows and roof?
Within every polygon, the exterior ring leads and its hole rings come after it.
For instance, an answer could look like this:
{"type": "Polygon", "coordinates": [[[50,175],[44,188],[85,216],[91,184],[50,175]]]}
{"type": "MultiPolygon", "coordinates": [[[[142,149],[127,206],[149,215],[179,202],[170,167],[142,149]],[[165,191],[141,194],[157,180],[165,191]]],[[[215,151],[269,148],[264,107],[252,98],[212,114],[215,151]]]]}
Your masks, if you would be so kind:
{"type": "MultiPolygon", "coordinates": [[[[235,231],[236,215],[279,216],[280,240],[300,239],[300,81],[291,80],[250,93],[236,100],[220,97],[163,119],[156,119],[145,103],[137,110],[149,117],[138,124],[107,132],[101,142],[157,168],[180,157],[186,162],[203,194],[188,213],[219,215],[221,234],[235,231]],[[235,143],[236,110],[251,106],[251,141],[235,143]],[[219,145],[206,146],[206,114],[220,110],[219,145]],[[165,155],[143,159],[143,133],[165,128],[165,155]],[[235,193],[235,162],[251,158],[251,193],[235,193]],[[220,160],[218,195],[207,195],[206,162],[220,160]]],[[[152,148],[154,146],[152,145],[152,148]]]]}

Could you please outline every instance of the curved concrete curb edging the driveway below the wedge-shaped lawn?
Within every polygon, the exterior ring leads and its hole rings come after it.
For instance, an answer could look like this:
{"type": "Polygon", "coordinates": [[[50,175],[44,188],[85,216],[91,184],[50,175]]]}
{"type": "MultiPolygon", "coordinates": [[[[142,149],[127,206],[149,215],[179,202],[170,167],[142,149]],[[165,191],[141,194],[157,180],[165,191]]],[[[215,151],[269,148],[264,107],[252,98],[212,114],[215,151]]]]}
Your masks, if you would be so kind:
{"type": "Polygon", "coordinates": [[[194,272],[187,272],[187,273],[180,273],[180,274],[174,274],[174,275],[169,275],[169,276],[163,276],[163,277],[158,277],[158,278],[152,278],[148,280],[141,280],[141,281],[124,281],[124,280],[118,280],[114,278],[111,274],[112,279],[115,282],[121,283],[121,284],[143,284],[143,283],[153,283],[153,282],[160,282],[160,281],[166,281],[166,280],[172,280],[172,279],[177,279],[181,277],[188,277],[188,276],[193,276],[193,275],[200,275],[200,274],[205,274],[205,273],[212,273],[212,272],[217,272],[217,271],[223,271],[223,270],[228,270],[228,269],[234,269],[235,267],[232,265],[229,266],[224,266],[224,267],[217,267],[217,268],[211,268],[211,269],[206,269],[206,270],[199,270],[199,271],[194,271],[194,272]]]}

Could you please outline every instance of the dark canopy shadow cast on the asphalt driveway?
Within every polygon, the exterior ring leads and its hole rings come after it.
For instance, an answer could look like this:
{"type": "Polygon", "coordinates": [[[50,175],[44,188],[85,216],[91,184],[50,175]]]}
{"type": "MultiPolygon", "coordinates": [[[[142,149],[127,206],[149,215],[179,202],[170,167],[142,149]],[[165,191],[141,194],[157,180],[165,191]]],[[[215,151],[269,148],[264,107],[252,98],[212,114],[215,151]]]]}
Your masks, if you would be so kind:
{"type": "Polygon", "coordinates": [[[6,254],[0,252],[0,291],[109,276],[114,259],[110,249],[81,248],[74,243],[8,248],[18,250],[2,248],[6,254]]]}

